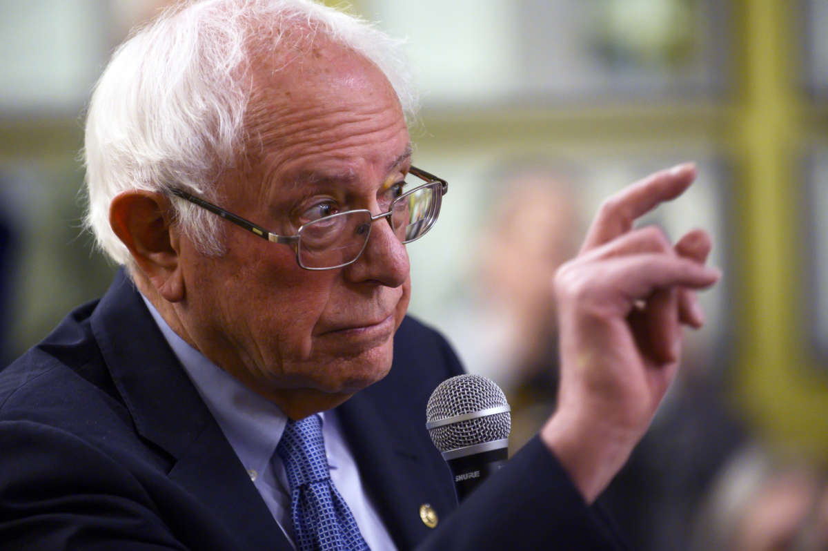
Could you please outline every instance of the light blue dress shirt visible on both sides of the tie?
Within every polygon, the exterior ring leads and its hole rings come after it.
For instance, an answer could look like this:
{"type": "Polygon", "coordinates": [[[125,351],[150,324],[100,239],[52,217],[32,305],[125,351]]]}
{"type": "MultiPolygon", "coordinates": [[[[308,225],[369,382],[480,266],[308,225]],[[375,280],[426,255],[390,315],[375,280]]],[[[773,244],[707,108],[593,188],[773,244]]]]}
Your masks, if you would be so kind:
{"type": "MultiPolygon", "coordinates": [[[[224,436],[248,471],[253,486],[262,495],[279,527],[293,542],[291,493],[282,460],[275,455],[285,430],[287,417],[282,410],[248,389],[233,375],[219,368],[187,344],[167,325],[147,297],[142,297],[152,318],[190,376],[201,399],[219,423],[224,436]]],[[[334,486],[354,513],[359,531],[374,551],[396,549],[359,476],[354,456],[342,436],[339,419],[333,410],[318,413],[322,418],[325,453],[334,486]]]]}

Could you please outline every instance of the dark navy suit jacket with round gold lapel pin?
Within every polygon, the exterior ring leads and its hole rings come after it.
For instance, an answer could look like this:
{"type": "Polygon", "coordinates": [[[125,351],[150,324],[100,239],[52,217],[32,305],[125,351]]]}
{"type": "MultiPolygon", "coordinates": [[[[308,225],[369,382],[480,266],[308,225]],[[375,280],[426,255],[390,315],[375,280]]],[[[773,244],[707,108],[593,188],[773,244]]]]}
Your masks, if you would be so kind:
{"type": "MultiPolygon", "coordinates": [[[[397,546],[614,549],[537,441],[457,507],[425,406],[460,372],[407,318],[390,375],[338,408],[397,546]]],[[[291,549],[123,273],[0,372],[0,549],[291,549]]]]}

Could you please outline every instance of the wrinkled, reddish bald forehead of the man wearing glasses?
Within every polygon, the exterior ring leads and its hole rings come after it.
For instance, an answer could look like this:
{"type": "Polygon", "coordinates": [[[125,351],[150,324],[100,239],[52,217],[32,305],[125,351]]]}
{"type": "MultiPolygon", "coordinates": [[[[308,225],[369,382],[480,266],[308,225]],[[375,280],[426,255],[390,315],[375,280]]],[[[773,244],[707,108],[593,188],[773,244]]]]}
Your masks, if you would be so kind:
{"type": "Polygon", "coordinates": [[[341,172],[349,156],[354,163],[378,156],[373,161],[385,164],[410,149],[392,85],[347,47],[314,41],[288,55],[263,56],[250,78],[245,166],[248,185],[264,184],[262,192],[276,181],[286,184],[286,170],[295,172],[296,164],[324,172],[324,161],[336,157],[334,170],[341,172]]]}

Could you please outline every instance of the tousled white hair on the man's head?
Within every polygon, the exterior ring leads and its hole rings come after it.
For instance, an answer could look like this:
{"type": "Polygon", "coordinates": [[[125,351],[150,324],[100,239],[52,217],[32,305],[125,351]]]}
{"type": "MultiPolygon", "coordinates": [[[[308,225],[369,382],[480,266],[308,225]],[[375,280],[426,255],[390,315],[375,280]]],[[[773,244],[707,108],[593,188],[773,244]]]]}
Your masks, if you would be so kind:
{"type": "MultiPolygon", "coordinates": [[[[208,200],[243,156],[257,46],[279,52],[286,36],[320,37],[358,52],[388,78],[407,118],[416,94],[392,39],[362,20],[310,0],[205,0],[165,12],[113,54],[86,118],[86,225],[115,262],[131,264],[109,225],[109,205],[128,190],[177,186],[208,200]]],[[[296,41],[291,41],[291,47],[296,41]]],[[[181,230],[203,254],[222,254],[219,217],[173,201],[181,230]]]]}

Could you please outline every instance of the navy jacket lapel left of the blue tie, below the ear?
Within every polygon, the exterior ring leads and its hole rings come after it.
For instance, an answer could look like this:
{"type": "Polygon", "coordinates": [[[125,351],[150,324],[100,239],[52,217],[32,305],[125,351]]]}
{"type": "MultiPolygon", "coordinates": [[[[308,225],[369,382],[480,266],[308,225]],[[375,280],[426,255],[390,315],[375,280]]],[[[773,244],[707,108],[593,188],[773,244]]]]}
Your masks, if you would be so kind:
{"type": "Polygon", "coordinates": [[[92,329],[137,432],[175,459],[170,479],[214,511],[238,549],[293,549],[123,270],[92,329]]]}

